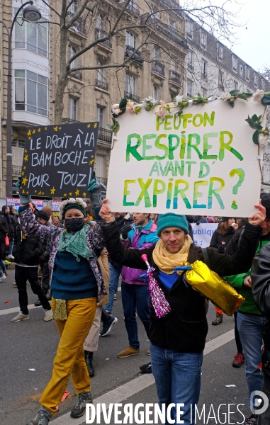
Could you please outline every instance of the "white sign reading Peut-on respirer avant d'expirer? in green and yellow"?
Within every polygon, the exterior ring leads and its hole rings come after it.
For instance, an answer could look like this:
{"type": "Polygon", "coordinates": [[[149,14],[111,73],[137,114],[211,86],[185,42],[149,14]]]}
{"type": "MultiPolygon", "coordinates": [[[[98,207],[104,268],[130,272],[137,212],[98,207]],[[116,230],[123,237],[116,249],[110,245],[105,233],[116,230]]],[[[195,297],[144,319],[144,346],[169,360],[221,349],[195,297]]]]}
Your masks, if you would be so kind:
{"type": "MultiPolygon", "coordinates": [[[[247,217],[259,202],[261,174],[254,130],[245,119],[261,115],[261,103],[217,99],[184,108],[169,103],[164,119],[152,111],[116,120],[108,172],[113,211],[176,212],[247,217]]],[[[262,154],[262,153],[261,153],[262,154]]]]}

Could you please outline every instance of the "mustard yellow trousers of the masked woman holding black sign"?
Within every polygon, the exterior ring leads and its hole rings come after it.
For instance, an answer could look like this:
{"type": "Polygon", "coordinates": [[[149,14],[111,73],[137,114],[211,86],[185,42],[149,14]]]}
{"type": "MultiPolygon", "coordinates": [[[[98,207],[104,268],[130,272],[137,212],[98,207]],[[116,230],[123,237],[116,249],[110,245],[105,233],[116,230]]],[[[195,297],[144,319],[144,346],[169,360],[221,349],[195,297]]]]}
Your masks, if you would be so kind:
{"type": "MultiPolygon", "coordinates": [[[[52,298],[52,310],[55,300],[52,298]]],[[[72,375],[77,394],[91,390],[84,358],[84,341],[96,316],[96,298],[67,300],[67,320],[55,320],[60,343],[53,361],[52,378],[43,391],[40,404],[57,413],[64,391],[72,375]]]]}

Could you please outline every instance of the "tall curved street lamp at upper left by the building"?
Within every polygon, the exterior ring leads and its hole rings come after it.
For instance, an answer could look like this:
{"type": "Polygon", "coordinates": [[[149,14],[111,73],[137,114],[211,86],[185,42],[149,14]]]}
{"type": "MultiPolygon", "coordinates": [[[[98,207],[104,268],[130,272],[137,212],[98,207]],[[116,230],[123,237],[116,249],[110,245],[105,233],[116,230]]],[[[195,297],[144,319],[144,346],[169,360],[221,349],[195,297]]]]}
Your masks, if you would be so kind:
{"type": "Polygon", "coordinates": [[[16,12],[16,15],[13,18],[13,21],[11,23],[11,28],[8,28],[6,26],[6,23],[3,21],[0,21],[6,28],[6,32],[8,33],[9,38],[9,44],[8,44],[8,50],[9,50],[9,69],[8,69],[8,87],[7,87],[7,113],[6,113],[6,196],[12,197],[12,122],[11,122],[11,114],[12,114],[12,96],[11,96],[11,81],[12,81],[12,74],[11,74],[11,50],[12,50],[12,31],[14,24],[16,22],[16,19],[18,17],[18,14],[20,13],[21,9],[26,6],[26,4],[29,4],[30,6],[27,6],[23,10],[23,18],[25,21],[36,23],[41,18],[41,13],[33,6],[33,1],[26,1],[26,3],[23,3],[20,8],[18,8],[18,11],[16,12]]]}

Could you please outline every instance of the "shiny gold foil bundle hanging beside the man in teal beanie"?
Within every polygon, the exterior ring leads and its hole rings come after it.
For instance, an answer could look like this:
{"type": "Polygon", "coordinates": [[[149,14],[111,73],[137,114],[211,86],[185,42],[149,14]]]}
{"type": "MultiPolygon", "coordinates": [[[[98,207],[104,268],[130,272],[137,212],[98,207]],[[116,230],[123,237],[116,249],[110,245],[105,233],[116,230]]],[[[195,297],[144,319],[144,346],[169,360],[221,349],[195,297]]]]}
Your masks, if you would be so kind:
{"type": "Polygon", "coordinates": [[[220,278],[217,273],[211,271],[206,263],[195,261],[191,264],[192,270],[186,271],[186,283],[198,290],[201,295],[208,298],[219,307],[225,314],[232,316],[244,301],[244,297],[237,293],[229,283],[220,278]]]}

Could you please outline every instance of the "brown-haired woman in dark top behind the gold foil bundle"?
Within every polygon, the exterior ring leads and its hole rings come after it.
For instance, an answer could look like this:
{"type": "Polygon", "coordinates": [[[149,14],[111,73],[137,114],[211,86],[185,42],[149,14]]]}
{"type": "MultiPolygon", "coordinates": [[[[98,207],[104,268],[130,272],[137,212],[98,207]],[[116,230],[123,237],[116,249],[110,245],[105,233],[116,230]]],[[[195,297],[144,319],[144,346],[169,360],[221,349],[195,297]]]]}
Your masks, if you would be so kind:
{"type": "MultiPolygon", "coordinates": [[[[220,221],[218,229],[215,229],[213,236],[210,242],[210,248],[215,249],[215,251],[220,254],[225,254],[226,246],[232,239],[235,230],[238,226],[235,220],[235,217],[223,217],[220,221]]],[[[215,319],[213,320],[213,325],[218,325],[223,322],[223,310],[215,306],[215,319]]]]}

